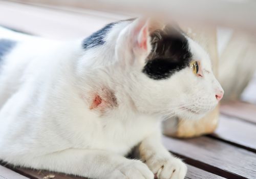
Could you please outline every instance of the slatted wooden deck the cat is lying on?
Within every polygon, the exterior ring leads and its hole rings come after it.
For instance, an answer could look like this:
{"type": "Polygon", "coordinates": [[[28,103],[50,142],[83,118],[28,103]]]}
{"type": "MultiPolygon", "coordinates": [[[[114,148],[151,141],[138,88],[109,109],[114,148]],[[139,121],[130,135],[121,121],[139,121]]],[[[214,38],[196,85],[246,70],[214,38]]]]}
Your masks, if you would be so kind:
{"type": "MultiPolygon", "coordinates": [[[[102,25],[125,17],[128,16],[0,1],[0,25],[55,39],[87,36],[102,25]],[[81,24],[81,21],[87,24],[81,24]]],[[[163,137],[163,142],[170,152],[188,164],[186,178],[256,178],[254,105],[242,102],[223,104],[219,127],[212,135],[186,140],[163,137]]],[[[80,177],[0,165],[0,179],[11,178],[80,177]]]]}

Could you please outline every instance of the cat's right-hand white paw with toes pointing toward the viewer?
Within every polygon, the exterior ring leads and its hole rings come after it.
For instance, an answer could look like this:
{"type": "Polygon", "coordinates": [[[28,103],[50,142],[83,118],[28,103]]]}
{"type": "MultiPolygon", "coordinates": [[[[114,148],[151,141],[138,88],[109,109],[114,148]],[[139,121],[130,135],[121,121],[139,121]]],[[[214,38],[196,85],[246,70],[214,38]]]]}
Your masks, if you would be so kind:
{"type": "Polygon", "coordinates": [[[169,156],[168,158],[152,157],[146,161],[158,179],[184,179],[187,166],[180,159],[169,156]]]}

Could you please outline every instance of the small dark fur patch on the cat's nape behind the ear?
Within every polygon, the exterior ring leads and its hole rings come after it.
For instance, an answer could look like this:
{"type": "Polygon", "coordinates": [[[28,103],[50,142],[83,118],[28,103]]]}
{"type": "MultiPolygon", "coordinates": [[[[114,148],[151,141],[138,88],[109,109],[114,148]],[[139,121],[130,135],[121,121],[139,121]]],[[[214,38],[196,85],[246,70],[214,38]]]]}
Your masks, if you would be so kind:
{"type": "Polygon", "coordinates": [[[108,24],[102,29],[98,30],[97,32],[94,32],[92,35],[84,39],[82,42],[83,49],[90,49],[104,44],[104,37],[115,24],[116,23],[108,24]]]}

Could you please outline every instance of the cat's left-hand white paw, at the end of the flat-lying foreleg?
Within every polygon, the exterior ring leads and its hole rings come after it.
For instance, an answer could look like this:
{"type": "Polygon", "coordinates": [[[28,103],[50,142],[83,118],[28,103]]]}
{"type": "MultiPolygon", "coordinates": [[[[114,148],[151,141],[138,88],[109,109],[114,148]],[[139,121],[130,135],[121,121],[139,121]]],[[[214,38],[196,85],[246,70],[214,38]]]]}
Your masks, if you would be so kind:
{"type": "Polygon", "coordinates": [[[154,179],[154,174],[146,166],[138,160],[131,160],[127,163],[119,165],[106,178],[111,179],[154,179]]]}

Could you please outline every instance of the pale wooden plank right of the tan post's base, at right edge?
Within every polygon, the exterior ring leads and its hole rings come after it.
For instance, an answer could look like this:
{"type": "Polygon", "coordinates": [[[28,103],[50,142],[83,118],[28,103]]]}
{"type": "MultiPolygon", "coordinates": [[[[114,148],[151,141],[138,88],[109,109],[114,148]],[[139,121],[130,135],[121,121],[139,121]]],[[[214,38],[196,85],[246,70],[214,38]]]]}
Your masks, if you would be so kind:
{"type": "Polygon", "coordinates": [[[219,126],[211,135],[256,153],[256,125],[220,115],[219,126]]]}

